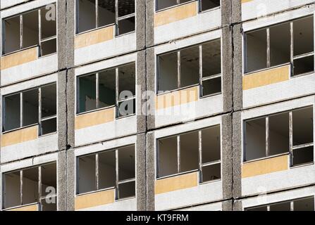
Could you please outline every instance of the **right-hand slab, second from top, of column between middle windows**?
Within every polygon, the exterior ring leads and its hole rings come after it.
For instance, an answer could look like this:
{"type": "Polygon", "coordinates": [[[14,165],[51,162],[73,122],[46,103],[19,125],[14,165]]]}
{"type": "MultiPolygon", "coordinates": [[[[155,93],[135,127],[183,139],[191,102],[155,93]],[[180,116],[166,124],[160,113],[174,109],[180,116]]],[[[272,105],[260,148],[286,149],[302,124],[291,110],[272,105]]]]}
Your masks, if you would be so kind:
{"type": "Polygon", "coordinates": [[[154,48],[147,49],[147,129],[151,130],[155,128],[155,55],[154,48]]]}

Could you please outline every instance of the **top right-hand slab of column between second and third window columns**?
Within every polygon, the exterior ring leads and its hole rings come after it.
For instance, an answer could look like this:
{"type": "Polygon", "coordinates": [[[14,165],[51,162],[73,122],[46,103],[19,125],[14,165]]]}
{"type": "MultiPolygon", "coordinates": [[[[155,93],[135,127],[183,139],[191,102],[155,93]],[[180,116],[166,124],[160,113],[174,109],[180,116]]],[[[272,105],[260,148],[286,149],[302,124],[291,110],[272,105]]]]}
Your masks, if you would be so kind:
{"type": "Polygon", "coordinates": [[[146,0],[146,46],[154,45],[154,1],[146,0]]]}

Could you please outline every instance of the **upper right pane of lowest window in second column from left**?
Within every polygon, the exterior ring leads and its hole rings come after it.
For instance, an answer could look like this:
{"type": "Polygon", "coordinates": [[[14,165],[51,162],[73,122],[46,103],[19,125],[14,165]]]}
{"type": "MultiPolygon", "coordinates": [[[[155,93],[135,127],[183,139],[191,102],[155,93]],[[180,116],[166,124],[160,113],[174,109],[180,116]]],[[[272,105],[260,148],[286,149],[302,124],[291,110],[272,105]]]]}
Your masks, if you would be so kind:
{"type": "Polygon", "coordinates": [[[135,146],[118,149],[118,179],[135,178],[135,146]]]}

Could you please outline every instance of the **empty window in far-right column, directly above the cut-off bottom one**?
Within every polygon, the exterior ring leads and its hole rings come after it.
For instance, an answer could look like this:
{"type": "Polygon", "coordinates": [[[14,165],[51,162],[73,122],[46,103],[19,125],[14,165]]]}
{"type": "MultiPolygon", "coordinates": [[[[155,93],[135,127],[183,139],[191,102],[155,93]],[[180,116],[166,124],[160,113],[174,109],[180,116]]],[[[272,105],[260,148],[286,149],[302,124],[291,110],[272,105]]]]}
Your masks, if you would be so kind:
{"type": "Polygon", "coordinates": [[[313,162],[313,134],[312,107],[247,120],[244,160],[291,153],[292,166],[313,162]]]}

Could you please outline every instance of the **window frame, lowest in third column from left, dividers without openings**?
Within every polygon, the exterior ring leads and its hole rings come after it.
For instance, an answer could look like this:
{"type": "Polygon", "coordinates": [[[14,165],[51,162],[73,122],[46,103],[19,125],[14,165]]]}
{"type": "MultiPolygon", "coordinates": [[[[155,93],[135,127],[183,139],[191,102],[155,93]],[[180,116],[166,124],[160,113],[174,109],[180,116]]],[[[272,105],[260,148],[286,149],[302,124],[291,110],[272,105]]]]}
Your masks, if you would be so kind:
{"type": "Polygon", "coordinates": [[[185,133],[175,134],[175,135],[161,137],[159,139],[156,139],[156,180],[166,179],[168,177],[179,176],[182,174],[189,174],[190,172],[198,171],[199,172],[199,184],[207,184],[207,183],[211,183],[214,181],[220,181],[222,179],[222,135],[221,134],[222,134],[221,124],[216,124],[216,125],[211,126],[211,127],[204,127],[202,129],[197,129],[194,131],[187,131],[185,133]],[[214,160],[212,162],[202,162],[202,131],[204,131],[206,129],[215,128],[215,127],[219,127],[219,129],[220,129],[220,160],[214,160]],[[180,172],[180,136],[182,136],[183,134],[190,134],[193,132],[198,132],[198,158],[199,158],[198,165],[199,165],[199,168],[193,169],[193,170],[187,171],[187,172],[180,172]],[[160,167],[159,140],[168,139],[168,138],[172,138],[172,137],[176,137],[177,173],[171,174],[171,175],[166,175],[166,176],[159,176],[159,167],[160,167]],[[218,164],[220,164],[220,178],[214,179],[211,181],[203,181],[202,169],[204,167],[210,167],[212,165],[218,165],[218,164]]]}

